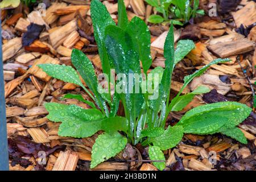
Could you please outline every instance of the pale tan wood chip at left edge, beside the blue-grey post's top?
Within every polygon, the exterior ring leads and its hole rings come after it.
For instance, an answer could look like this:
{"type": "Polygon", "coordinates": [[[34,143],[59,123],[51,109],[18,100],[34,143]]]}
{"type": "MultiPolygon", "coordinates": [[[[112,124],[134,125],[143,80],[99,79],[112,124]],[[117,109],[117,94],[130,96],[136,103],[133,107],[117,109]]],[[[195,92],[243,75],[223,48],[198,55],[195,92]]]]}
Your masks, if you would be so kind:
{"type": "Polygon", "coordinates": [[[7,43],[3,44],[3,62],[13,57],[20,48],[22,48],[22,39],[18,37],[11,39],[7,43]]]}

